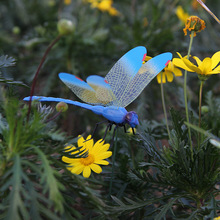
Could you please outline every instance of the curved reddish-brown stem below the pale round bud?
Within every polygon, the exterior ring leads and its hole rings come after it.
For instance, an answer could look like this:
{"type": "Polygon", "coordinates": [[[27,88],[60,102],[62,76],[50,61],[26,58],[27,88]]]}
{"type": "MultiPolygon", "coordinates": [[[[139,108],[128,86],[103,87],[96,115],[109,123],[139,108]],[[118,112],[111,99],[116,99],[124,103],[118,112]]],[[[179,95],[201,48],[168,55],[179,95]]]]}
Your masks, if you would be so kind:
{"type": "Polygon", "coordinates": [[[32,96],[34,94],[34,89],[35,89],[35,86],[36,86],[36,82],[37,82],[37,77],[39,75],[39,72],[40,72],[40,69],[48,55],[48,53],[50,52],[50,50],[52,49],[52,47],[56,44],[57,41],[59,41],[59,39],[62,37],[62,35],[58,35],[52,42],[51,44],[48,46],[48,48],[46,49],[42,59],[41,59],[41,62],[37,68],[37,71],[35,73],[35,76],[34,76],[34,79],[33,79],[33,83],[32,83],[32,86],[31,86],[31,93],[30,93],[30,101],[29,101],[29,107],[28,107],[28,113],[27,113],[27,121],[29,121],[29,116],[30,116],[30,112],[31,112],[31,102],[32,102],[32,96]]]}

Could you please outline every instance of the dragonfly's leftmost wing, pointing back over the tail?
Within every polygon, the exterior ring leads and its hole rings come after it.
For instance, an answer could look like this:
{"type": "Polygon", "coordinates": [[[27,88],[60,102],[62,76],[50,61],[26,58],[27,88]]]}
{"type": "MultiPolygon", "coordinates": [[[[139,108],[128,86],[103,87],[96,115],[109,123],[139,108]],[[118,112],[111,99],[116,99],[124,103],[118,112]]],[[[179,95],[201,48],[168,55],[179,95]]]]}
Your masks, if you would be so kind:
{"type": "Polygon", "coordinates": [[[82,101],[92,104],[100,103],[96,98],[95,90],[79,77],[69,73],[60,73],[59,77],[82,101]]]}

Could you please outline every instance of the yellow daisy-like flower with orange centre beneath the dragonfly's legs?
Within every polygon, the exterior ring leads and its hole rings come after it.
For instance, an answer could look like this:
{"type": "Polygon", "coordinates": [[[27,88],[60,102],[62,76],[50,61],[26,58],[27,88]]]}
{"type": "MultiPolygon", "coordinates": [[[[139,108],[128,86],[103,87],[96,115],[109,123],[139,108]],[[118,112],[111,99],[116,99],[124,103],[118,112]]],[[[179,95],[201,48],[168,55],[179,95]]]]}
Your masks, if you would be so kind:
{"type": "MultiPolygon", "coordinates": [[[[108,165],[109,162],[105,159],[109,158],[112,155],[111,151],[108,151],[110,144],[104,144],[104,141],[100,143],[101,140],[97,141],[94,144],[93,139],[89,140],[91,135],[85,139],[81,136],[78,139],[78,146],[82,147],[80,151],[88,152],[87,157],[85,158],[68,158],[66,156],[62,157],[62,160],[65,163],[68,163],[69,166],[67,167],[72,173],[80,174],[83,172],[83,176],[85,178],[90,177],[91,170],[95,173],[101,173],[102,168],[99,165],[108,165]],[[85,142],[84,142],[85,141],[85,142]]],[[[66,152],[72,151],[76,149],[75,146],[70,145],[67,146],[66,152]]]]}

